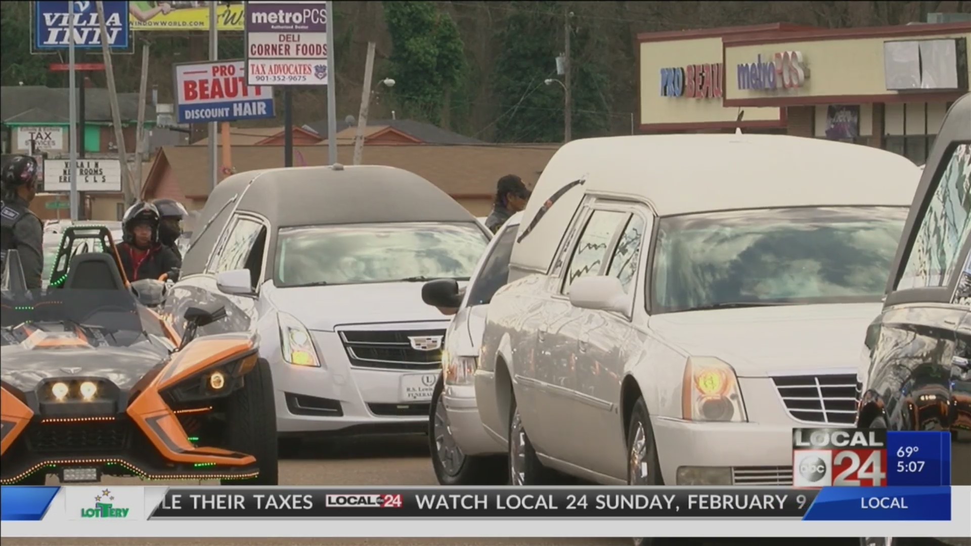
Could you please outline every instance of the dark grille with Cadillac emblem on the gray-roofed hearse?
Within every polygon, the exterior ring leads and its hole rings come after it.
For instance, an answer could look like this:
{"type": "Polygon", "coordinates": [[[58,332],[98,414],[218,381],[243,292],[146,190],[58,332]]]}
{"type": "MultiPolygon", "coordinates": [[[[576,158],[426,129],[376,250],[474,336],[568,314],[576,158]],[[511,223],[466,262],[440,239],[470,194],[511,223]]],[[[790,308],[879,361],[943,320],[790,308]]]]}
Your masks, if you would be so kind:
{"type": "Polygon", "coordinates": [[[435,330],[344,330],[341,342],[351,365],[360,368],[428,370],[442,366],[445,329],[435,330]],[[412,337],[441,336],[438,349],[422,351],[412,346],[412,337]]]}

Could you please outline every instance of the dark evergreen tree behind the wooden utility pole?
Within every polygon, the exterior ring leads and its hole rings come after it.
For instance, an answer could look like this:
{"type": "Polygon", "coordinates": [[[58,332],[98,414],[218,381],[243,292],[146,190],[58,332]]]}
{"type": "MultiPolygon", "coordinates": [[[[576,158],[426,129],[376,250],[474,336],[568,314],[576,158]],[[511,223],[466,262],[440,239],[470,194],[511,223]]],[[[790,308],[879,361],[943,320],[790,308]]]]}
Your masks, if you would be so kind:
{"type": "MultiPolygon", "coordinates": [[[[501,106],[497,142],[562,142],[564,88],[556,56],[563,51],[560,2],[513,2],[515,10],[499,35],[501,49],[492,89],[501,106]]],[[[575,17],[576,19],[576,17],[575,17]]],[[[610,126],[611,93],[607,70],[598,58],[596,34],[581,27],[571,35],[573,138],[605,134],[610,126]],[[586,51],[586,54],[584,54],[586,51]]]]}

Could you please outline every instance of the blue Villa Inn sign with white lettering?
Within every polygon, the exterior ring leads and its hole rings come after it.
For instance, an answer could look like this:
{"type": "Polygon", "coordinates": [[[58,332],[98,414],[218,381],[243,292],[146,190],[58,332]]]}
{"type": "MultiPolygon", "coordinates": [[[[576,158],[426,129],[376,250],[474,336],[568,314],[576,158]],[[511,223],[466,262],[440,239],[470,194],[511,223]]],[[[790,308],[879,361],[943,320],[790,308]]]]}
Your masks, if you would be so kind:
{"type": "MultiPolygon", "coordinates": [[[[31,10],[31,52],[67,50],[71,43],[68,32],[70,2],[33,2],[31,10]]],[[[128,2],[105,2],[105,28],[108,45],[113,50],[127,51],[129,44],[128,2]]],[[[101,50],[101,27],[95,2],[74,2],[74,47],[101,50]]]]}

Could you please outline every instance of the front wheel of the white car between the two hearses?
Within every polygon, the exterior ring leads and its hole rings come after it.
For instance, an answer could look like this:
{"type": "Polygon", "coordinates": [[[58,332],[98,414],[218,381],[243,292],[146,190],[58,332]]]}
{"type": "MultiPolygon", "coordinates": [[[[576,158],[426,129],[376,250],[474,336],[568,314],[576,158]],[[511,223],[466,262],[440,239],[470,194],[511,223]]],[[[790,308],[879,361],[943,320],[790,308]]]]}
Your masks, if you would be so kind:
{"type": "Polygon", "coordinates": [[[449,414],[445,411],[441,378],[431,395],[428,414],[428,449],[435,478],[443,486],[491,486],[509,482],[506,461],[502,457],[473,457],[465,455],[454,444],[449,414]],[[436,429],[437,428],[437,429],[436,429]],[[452,461],[447,461],[451,456],[452,461]]]}

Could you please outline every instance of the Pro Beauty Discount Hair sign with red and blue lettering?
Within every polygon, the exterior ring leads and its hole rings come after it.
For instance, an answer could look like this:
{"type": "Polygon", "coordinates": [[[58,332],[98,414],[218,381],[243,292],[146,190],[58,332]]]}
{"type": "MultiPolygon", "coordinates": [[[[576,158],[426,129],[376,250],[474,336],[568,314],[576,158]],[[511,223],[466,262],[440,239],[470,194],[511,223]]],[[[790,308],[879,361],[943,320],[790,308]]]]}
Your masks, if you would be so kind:
{"type": "Polygon", "coordinates": [[[274,118],[273,87],[247,85],[245,70],[243,60],[177,64],[179,122],[274,118]]]}

